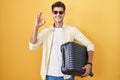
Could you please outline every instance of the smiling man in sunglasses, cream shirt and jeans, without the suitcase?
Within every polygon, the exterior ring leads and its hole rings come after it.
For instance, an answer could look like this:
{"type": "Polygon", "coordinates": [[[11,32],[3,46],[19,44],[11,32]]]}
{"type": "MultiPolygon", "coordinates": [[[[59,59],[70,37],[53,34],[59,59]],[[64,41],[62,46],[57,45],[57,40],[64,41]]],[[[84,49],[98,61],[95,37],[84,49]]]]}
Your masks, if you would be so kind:
{"type": "MultiPolygon", "coordinates": [[[[37,15],[33,33],[30,38],[30,50],[37,49],[43,45],[43,56],[41,65],[41,77],[43,80],[74,80],[70,75],[64,75],[61,72],[62,54],[60,46],[66,42],[74,40],[85,45],[88,50],[88,62],[92,64],[94,46],[93,44],[75,27],[64,24],[65,5],[58,1],[52,5],[52,16],[54,24],[46,29],[43,29],[39,35],[38,29],[45,24],[45,20],[41,18],[42,13],[37,15]]],[[[86,69],[85,74],[88,76],[92,66],[86,64],[83,69],[86,69]]]]}

